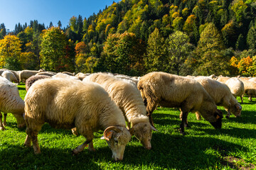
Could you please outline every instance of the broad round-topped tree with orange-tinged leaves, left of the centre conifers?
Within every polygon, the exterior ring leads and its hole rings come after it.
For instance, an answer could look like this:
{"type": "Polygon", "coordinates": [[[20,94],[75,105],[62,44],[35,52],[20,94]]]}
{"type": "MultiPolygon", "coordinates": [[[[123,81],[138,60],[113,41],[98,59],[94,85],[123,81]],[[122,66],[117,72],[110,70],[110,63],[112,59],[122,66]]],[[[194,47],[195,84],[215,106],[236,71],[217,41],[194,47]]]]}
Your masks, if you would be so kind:
{"type": "Polygon", "coordinates": [[[116,33],[109,35],[105,47],[105,64],[107,72],[127,75],[140,75],[143,70],[143,55],[145,52],[142,41],[134,33],[116,33]]]}

